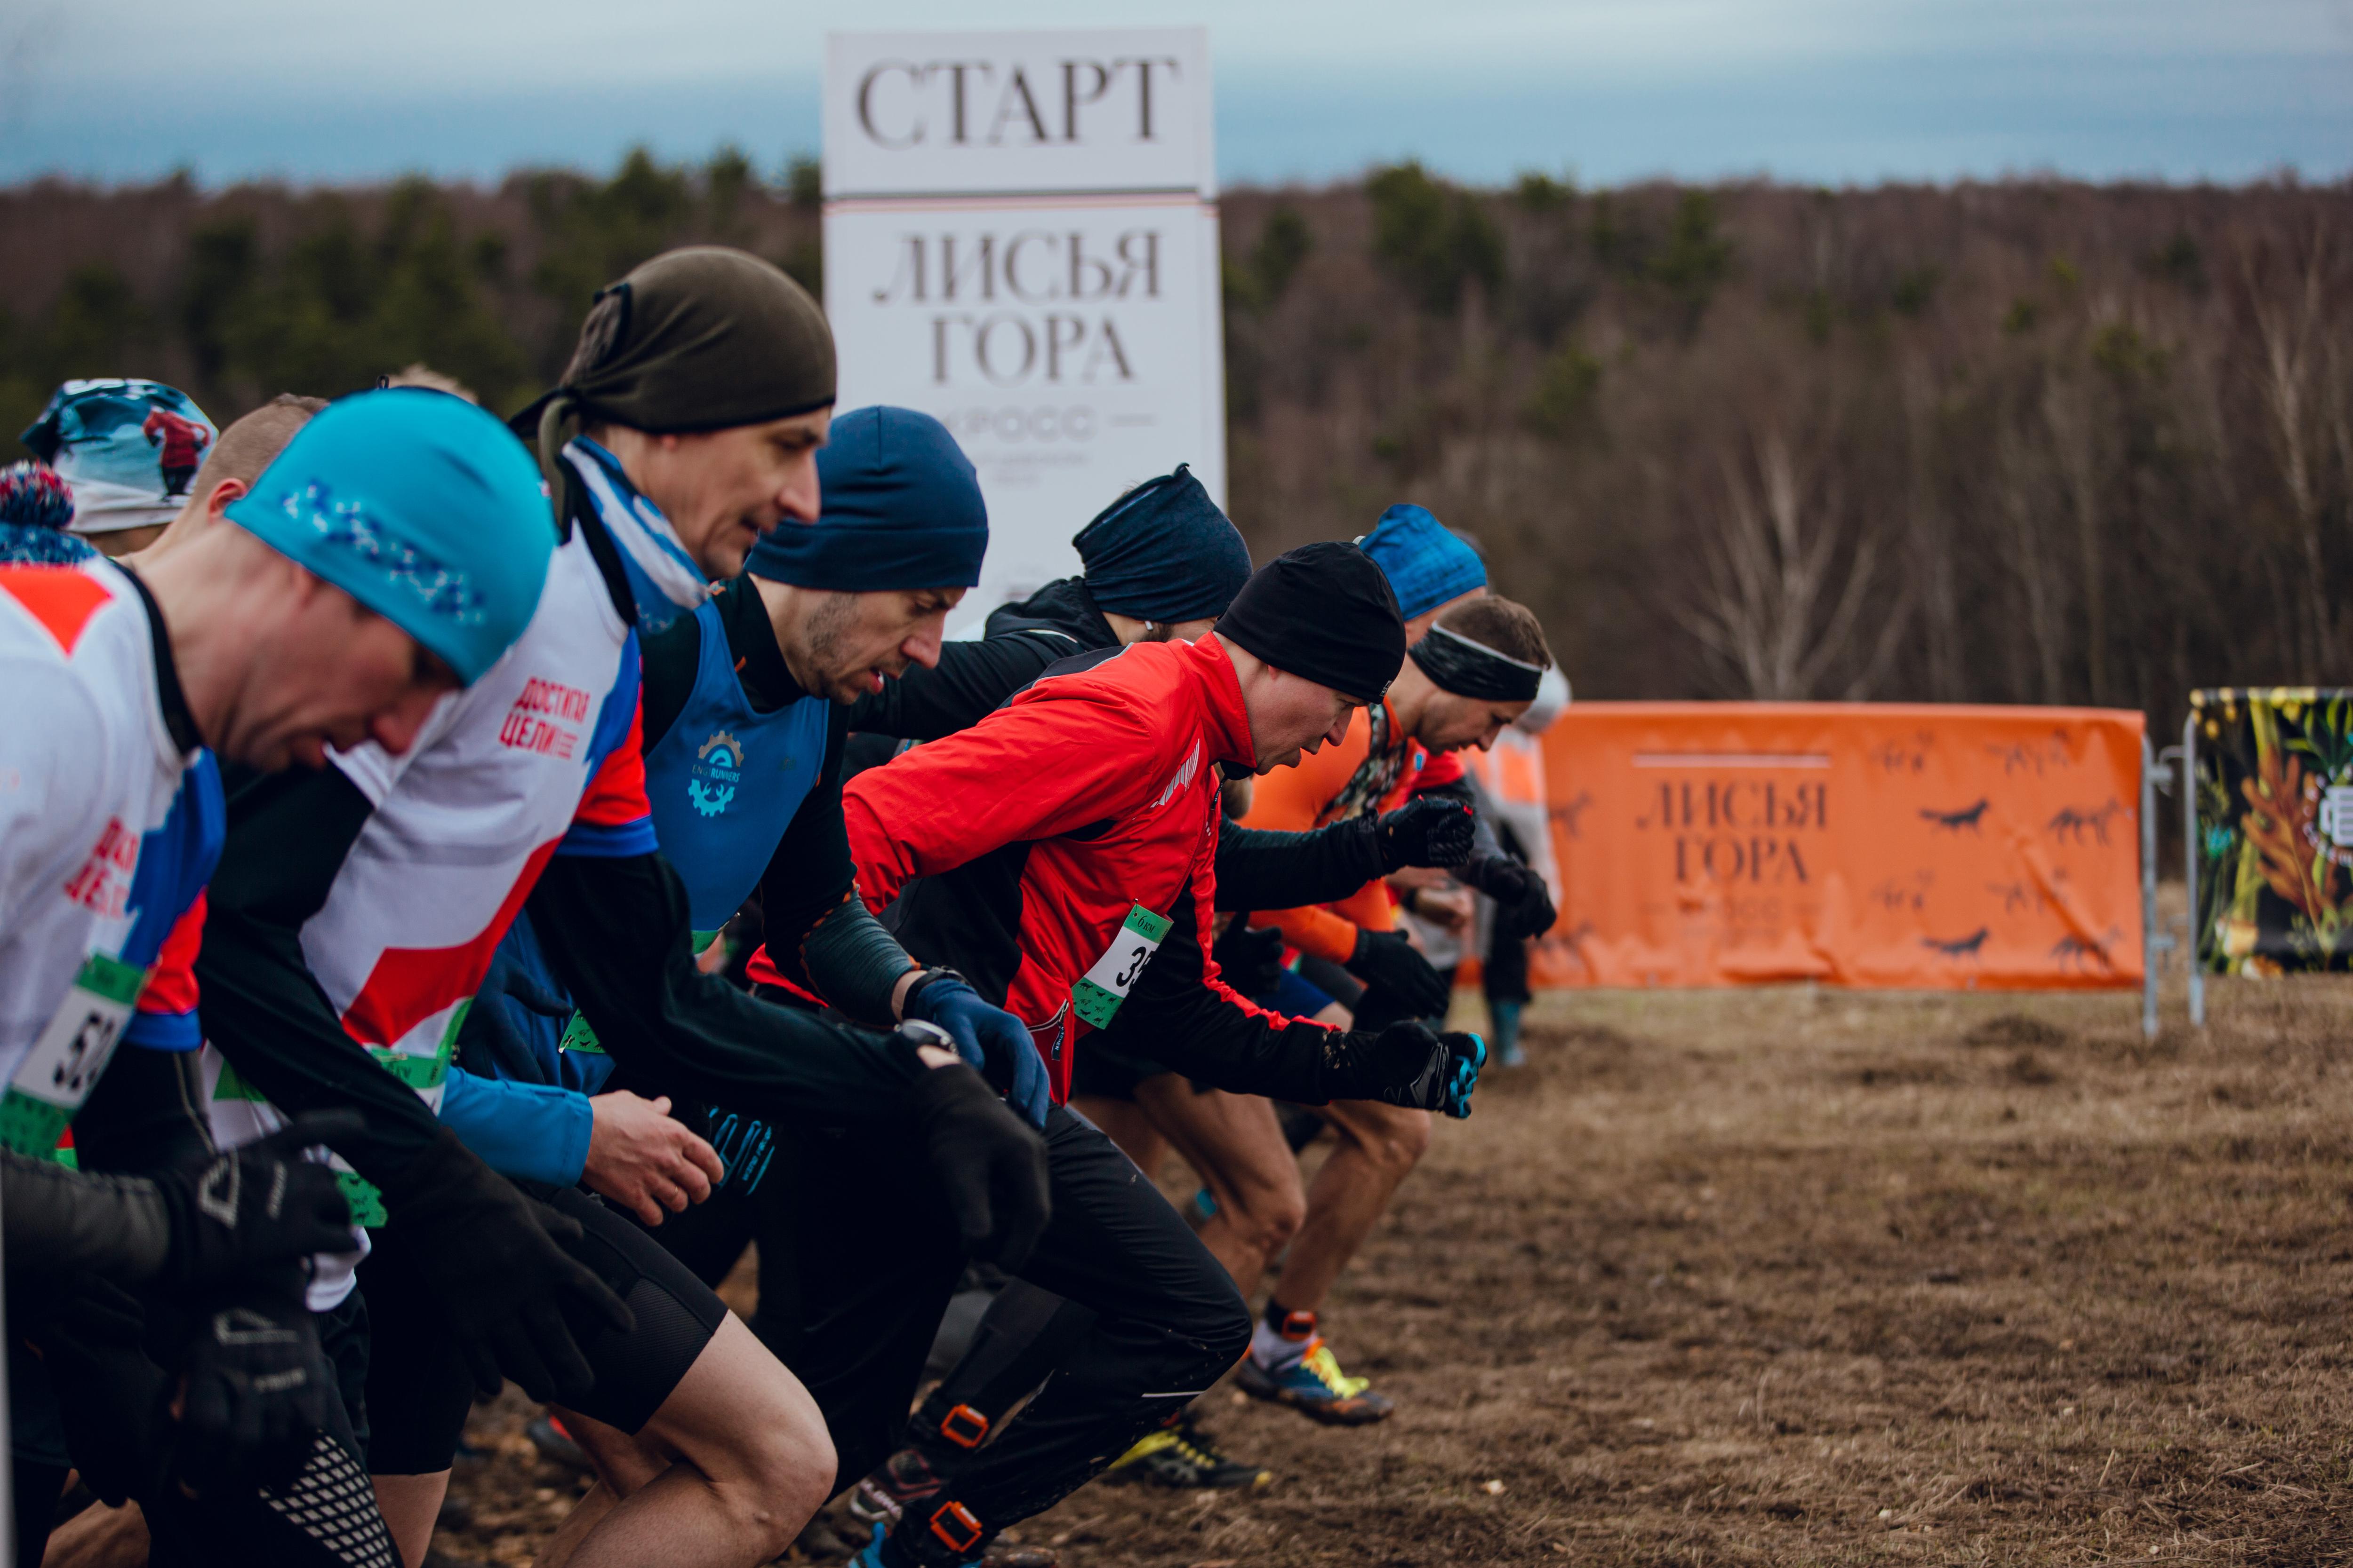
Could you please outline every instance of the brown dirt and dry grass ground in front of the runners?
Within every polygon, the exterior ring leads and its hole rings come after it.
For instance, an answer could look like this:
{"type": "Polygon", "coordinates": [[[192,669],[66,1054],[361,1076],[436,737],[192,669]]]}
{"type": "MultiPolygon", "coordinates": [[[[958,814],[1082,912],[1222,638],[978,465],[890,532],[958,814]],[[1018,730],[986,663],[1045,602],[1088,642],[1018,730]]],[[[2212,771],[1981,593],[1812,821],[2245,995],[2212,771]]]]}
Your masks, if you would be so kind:
{"type": "MultiPolygon", "coordinates": [[[[2353,983],[2212,1001],[2146,1044],[2122,994],[1548,997],[1327,1312],[1398,1415],[1219,1389],[1273,1488],[1089,1488],[1021,1535],[1073,1568],[2353,1556],[2353,983]]],[[[475,1441],[438,1549],[527,1561],[574,1483],[518,1406],[475,1441]]]]}

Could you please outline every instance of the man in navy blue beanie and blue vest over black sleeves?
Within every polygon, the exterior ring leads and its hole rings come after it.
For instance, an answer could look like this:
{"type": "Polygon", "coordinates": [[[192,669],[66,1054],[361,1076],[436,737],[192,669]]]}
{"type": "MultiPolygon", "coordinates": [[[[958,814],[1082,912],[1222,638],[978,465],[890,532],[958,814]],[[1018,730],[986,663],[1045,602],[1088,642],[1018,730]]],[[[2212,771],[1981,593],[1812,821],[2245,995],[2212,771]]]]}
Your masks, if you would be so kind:
{"type": "MultiPolygon", "coordinates": [[[[765,536],[744,576],[647,644],[647,792],[664,856],[687,884],[696,943],[760,891],[776,943],[776,961],[760,964],[772,985],[821,994],[852,1018],[936,1023],[1042,1121],[1045,1067],[1028,1032],[960,976],[906,957],[856,896],[842,825],[849,703],[939,656],[941,623],[979,583],[988,543],[979,480],[948,430],[908,409],[840,416],[816,465],[816,527],[765,536]]],[[[567,1032],[567,1056],[581,1034],[567,1032]]],[[[600,1070],[591,1056],[565,1074],[593,1081],[600,1070]]],[[[762,1302],[784,1305],[791,1241],[776,1234],[791,1234],[807,1190],[769,1173],[779,1145],[767,1119],[722,1107],[711,1126],[729,1175],[656,1237],[715,1284],[760,1234],[762,1302]]],[[[776,1347],[765,1307],[751,1326],[776,1347]]],[[[609,1427],[565,1429],[621,1495],[649,1469],[609,1427]]]]}

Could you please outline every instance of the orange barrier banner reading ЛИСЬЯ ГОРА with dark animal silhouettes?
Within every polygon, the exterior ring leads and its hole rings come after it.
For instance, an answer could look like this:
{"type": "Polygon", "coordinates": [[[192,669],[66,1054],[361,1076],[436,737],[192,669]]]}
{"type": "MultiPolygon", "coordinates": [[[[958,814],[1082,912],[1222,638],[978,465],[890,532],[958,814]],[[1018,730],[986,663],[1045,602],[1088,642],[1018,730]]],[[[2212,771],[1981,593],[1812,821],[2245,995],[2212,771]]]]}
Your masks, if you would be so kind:
{"type": "Polygon", "coordinates": [[[1574,703],[1537,985],[2141,983],[2141,715],[1574,703]]]}

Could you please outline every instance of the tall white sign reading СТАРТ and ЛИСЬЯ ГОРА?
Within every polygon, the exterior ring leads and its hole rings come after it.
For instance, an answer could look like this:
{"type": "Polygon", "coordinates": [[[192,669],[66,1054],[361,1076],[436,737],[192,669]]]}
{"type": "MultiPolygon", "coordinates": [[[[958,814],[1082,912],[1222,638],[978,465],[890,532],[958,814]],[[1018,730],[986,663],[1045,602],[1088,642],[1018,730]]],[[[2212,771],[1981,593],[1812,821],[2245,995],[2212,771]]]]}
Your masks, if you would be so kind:
{"type": "Polygon", "coordinates": [[[838,407],[934,414],[979,468],[955,625],[1078,571],[1071,536],[1176,463],[1224,505],[1209,108],[1202,28],[828,40],[838,407]]]}

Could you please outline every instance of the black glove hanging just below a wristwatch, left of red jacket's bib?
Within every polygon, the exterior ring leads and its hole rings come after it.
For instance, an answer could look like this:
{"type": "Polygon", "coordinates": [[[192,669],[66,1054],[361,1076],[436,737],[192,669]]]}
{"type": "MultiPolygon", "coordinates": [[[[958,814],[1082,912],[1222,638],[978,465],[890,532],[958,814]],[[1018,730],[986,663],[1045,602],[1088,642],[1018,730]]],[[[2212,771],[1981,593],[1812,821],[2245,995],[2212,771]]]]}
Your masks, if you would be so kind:
{"type": "MultiPolygon", "coordinates": [[[[899,1025],[899,1032],[915,1044],[941,1044],[929,1037],[934,1025],[899,1025]]],[[[962,1063],[925,1067],[908,1084],[906,1100],[932,1154],[932,1171],[946,1190],[965,1255],[1007,1274],[1019,1269],[1045,1234],[1054,1206],[1047,1197],[1045,1140],[962,1063]]]]}

